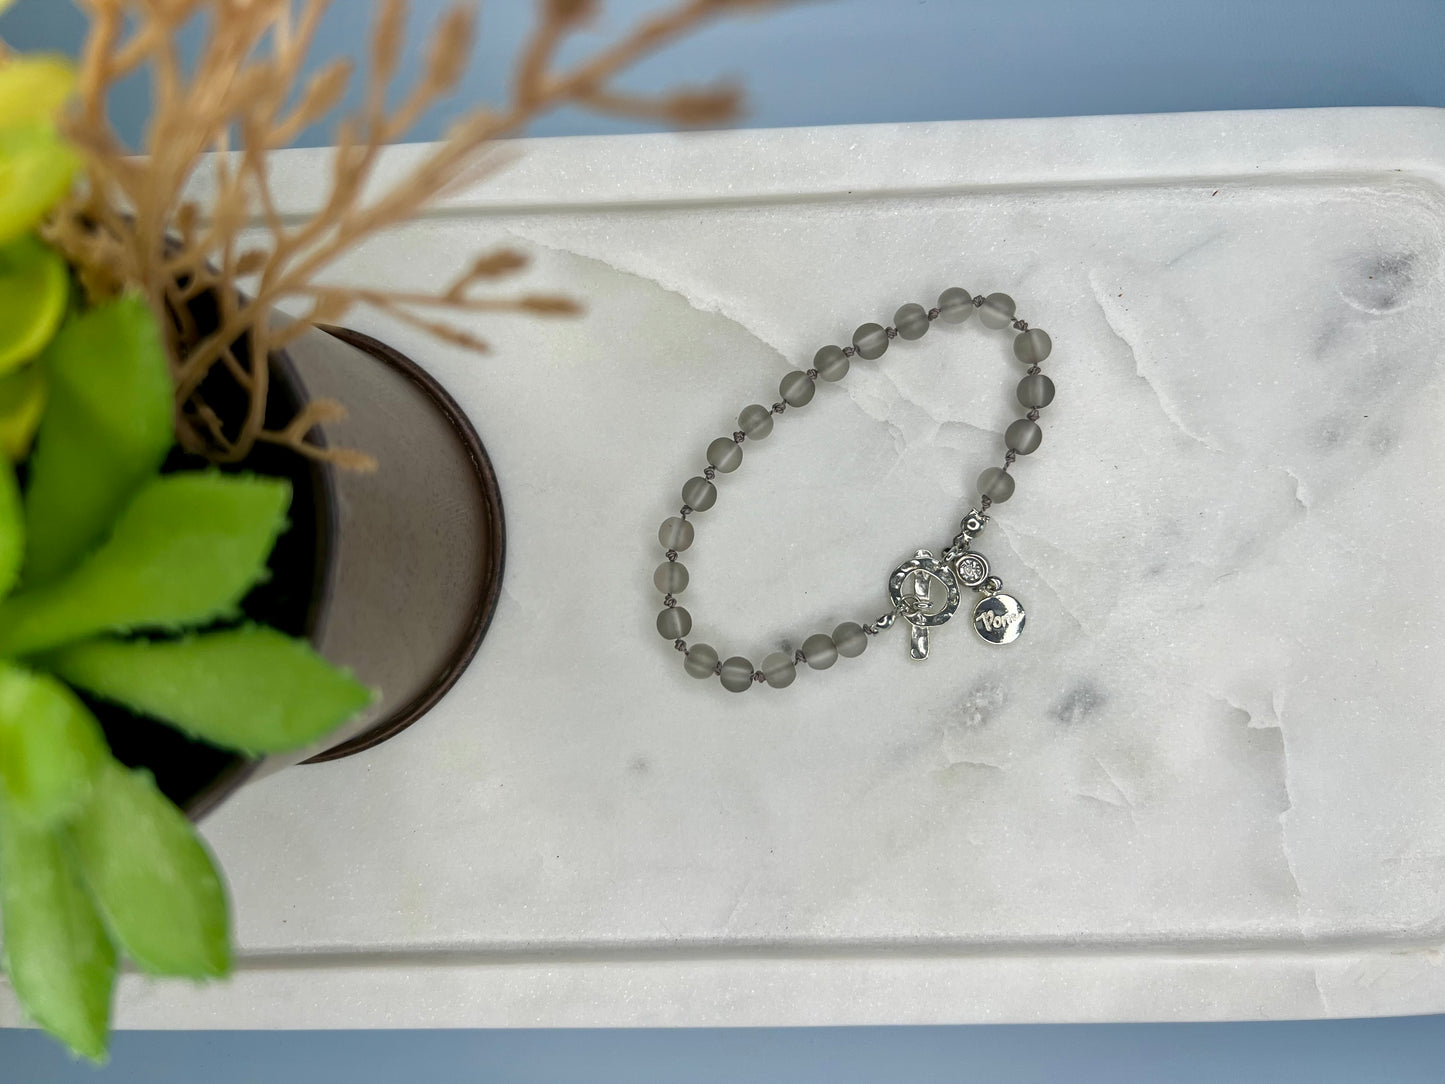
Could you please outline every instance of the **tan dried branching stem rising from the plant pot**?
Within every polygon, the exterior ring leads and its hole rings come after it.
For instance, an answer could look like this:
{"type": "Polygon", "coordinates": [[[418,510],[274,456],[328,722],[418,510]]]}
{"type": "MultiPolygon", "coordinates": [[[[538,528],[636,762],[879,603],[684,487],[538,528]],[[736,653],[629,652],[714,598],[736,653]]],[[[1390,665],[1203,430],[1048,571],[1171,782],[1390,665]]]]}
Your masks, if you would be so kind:
{"type": "Polygon", "coordinates": [[[597,4],[542,0],[510,100],[462,117],[405,176],[368,197],[383,149],[403,139],[461,81],[475,32],[470,9],[458,6],[441,17],[420,77],[397,95],[406,4],[379,0],[363,100],[338,116],[351,65],[337,61],[302,79],[328,0],[79,3],[90,14],[90,36],[81,56],[79,103],[66,130],[85,158],[85,185],[48,225],[48,236],[65,250],[92,298],[139,289],[162,317],[176,383],[176,432],[188,449],[237,461],[266,441],[350,467],[364,467],[366,457],[306,441],[316,423],[340,418],[332,403],[308,405],[279,431],[264,428],[273,350],[311,327],[338,321],[354,305],[473,350],[486,350],[486,341],[420,311],[564,315],[579,309],[552,295],[474,296],[474,286],[526,264],[513,250],[481,257],[438,293],[324,286],[318,279],[367,238],[413,217],[460,182],[499,169],[506,158],[494,142],[558,106],[679,126],[730,120],[738,94],[728,87],[639,97],[613,88],[611,81],[715,16],[766,6],[763,0],[685,0],[558,72],[558,48],[597,4]],[[181,61],[181,35],[198,20],[208,23],[207,33],[188,68],[181,61]],[[152,81],[152,113],[136,156],[116,134],[105,101],[117,81],[139,71],[152,81]],[[394,107],[389,106],[393,100],[394,107]],[[321,210],[289,224],[270,186],[269,155],[327,119],[335,120],[329,189],[321,210]],[[204,207],[186,195],[202,162],[212,168],[212,194],[204,207]],[[243,234],[257,221],[264,240],[243,244],[243,234]],[[250,283],[244,293],[238,289],[243,279],[250,283]],[[192,312],[207,296],[215,299],[211,327],[192,312]],[[276,317],[288,299],[301,301],[303,311],[283,325],[276,317]],[[238,351],[241,343],[246,348],[238,351]],[[202,384],[218,371],[247,396],[240,425],[221,419],[202,399],[202,384]]]}

